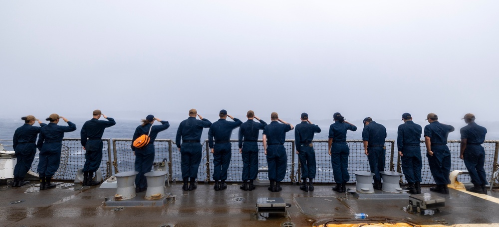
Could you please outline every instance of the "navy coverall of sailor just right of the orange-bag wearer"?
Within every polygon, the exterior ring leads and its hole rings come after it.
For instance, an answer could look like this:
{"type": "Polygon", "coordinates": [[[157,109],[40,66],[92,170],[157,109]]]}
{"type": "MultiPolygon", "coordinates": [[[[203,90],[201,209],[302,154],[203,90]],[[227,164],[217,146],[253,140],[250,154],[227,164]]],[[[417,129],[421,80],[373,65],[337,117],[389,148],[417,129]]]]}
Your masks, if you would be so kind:
{"type": "Polygon", "coordinates": [[[194,116],[189,116],[189,118],[180,122],[175,143],[180,148],[182,178],[196,179],[198,177],[202,151],[201,134],[203,128],[211,125],[212,122],[208,119],[198,120],[194,116]]]}

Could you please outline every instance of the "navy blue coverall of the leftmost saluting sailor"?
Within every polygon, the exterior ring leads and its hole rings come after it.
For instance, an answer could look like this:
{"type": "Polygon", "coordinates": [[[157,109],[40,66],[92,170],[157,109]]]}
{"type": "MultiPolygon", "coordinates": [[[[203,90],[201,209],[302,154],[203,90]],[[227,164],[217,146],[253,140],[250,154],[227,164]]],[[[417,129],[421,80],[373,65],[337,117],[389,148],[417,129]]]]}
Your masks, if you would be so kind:
{"type": "Polygon", "coordinates": [[[12,137],[12,146],[17,160],[14,167],[14,179],[24,180],[36,154],[36,136],[40,133],[41,127],[46,125],[41,123],[38,127],[25,123],[15,129],[12,137]]]}

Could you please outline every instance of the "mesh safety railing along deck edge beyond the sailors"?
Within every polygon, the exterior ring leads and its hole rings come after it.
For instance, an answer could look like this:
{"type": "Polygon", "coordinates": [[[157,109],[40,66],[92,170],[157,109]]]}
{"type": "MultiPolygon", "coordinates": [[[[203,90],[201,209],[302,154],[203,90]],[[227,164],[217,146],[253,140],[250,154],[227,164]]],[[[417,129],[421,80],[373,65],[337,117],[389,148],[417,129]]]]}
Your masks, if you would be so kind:
{"type": "MultiPolygon", "coordinates": [[[[104,143],[102,163],[100,166],[102,176],[107,178],[115,173],[123,171],[131,171],[135,169],[135,157],[131,150],[131,139],[102,139],[104,143]]],[[[243,169],[242,156],[239,153],[238,140],[231,140],[232,143],[232,159],[228,171],[229,182],[241,181],[241,173],[243,169]]],[[[79,168],[83,167],[85,163],[85,150],[83,150],[79,138],[64,138],[62,142],[61,163],[59,170],[55,173],[55,179],[72,180],[76,176],[79,168]]],[[[347,140],[350,148],[348,160],[348,172],[350,174],[350,183],[355,182],[355,171],[369,171],[369,162],[367,156],[364,154],[364,147],[362,140],[347,140]]],[[[170,180],[181,179],[181,155],[177,150],[175,142],[171,139],[157,139],[155,145],[155,162],[162,162],[166,159],[168,168],[165,169],[169,173],[170,180]]],[[[385,170],[402,172],[400,156],[395,147],[394,140],[385,140],[386,157],[385,157],[385,170]]],[[[286,140],[284,143],[288,163],[286,165],[286,177],[284,182],[296,183],[300,181],[301,169],[298,161],[298,155],[295,155],[294,140],[286,140]]],[[[327,140],[314,140],[313,146],[315,150],[317,173],[315,182],[317,183],[333,183],[333,172],[331,167],[331,156],[328,154],[327,140]]],[[[459,158],[460,154],[460,140],[449,140],[448,146],[451,151],[452,167],[451,170],[466,170],[463,160],[459,158]]],[[[485,170],[487,172],[487,179],[493,177],[493,173],[498,171],[498,153],[499,153],[499,140],[486,140],[483,144],[486,153],[485,170]]],[[[428,160],[426,158],[426,146],[424,141],[421,141],[421,154],[423,161],[422,178],[423,184],[433,184],[433,177],[428,167],[428,160]]],[[[258,140],[258,166],[266,167],[267,161],[263,153],[263,144],[258,140]]],[[[202,143],[202,161],[199,166],[198,180],[204,182],[212,181],[213,171],[213,156],[208,147],[208,141],[202,143]]],[[[38,152],[33,161],[31,170],[37,172],[38,166],[38,152]]],[[[260,173],[265,174],[265,173],[260,173]]],[[[264,179],[266,176],[258,176],[264,179]]],[[[460,175],[460,181],[469,181],[468,175],[460,175]]],[[[401,181],[405,182],[404,175],[401,176],[401,181]]],[[[499,182],[494,181],[493,184],[498,185],[499,182]]]]}

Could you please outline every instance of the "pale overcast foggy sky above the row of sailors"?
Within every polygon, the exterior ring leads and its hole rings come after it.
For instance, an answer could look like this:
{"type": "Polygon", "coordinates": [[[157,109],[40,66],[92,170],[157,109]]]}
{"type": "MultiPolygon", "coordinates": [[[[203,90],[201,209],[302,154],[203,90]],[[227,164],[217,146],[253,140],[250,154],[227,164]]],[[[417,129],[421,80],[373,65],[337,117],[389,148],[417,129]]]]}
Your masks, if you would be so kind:
{"type": "Polygon", "coordinates": [[[0,1],[2,116],[499,112],[499,1],[0,1]]]}

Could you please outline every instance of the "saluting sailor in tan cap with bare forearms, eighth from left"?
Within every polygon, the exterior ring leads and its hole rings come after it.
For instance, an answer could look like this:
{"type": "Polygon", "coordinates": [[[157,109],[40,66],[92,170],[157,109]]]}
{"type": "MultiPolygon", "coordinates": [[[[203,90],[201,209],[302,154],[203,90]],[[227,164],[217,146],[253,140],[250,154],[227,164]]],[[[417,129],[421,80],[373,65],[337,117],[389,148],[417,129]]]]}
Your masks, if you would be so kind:
{"type": "Polygon", "coordinates": [[[292,130],[294,126],[279,119],[277,113],[270,114],[270,124],[263,128],[263,148],[267,156],[268,179],[271,192],[281,191],[280,182],[286,175],[287,154],[284,148],[286,132],[292,130]],[[280,124],[281,122],[282,124],[280,124]]]}

